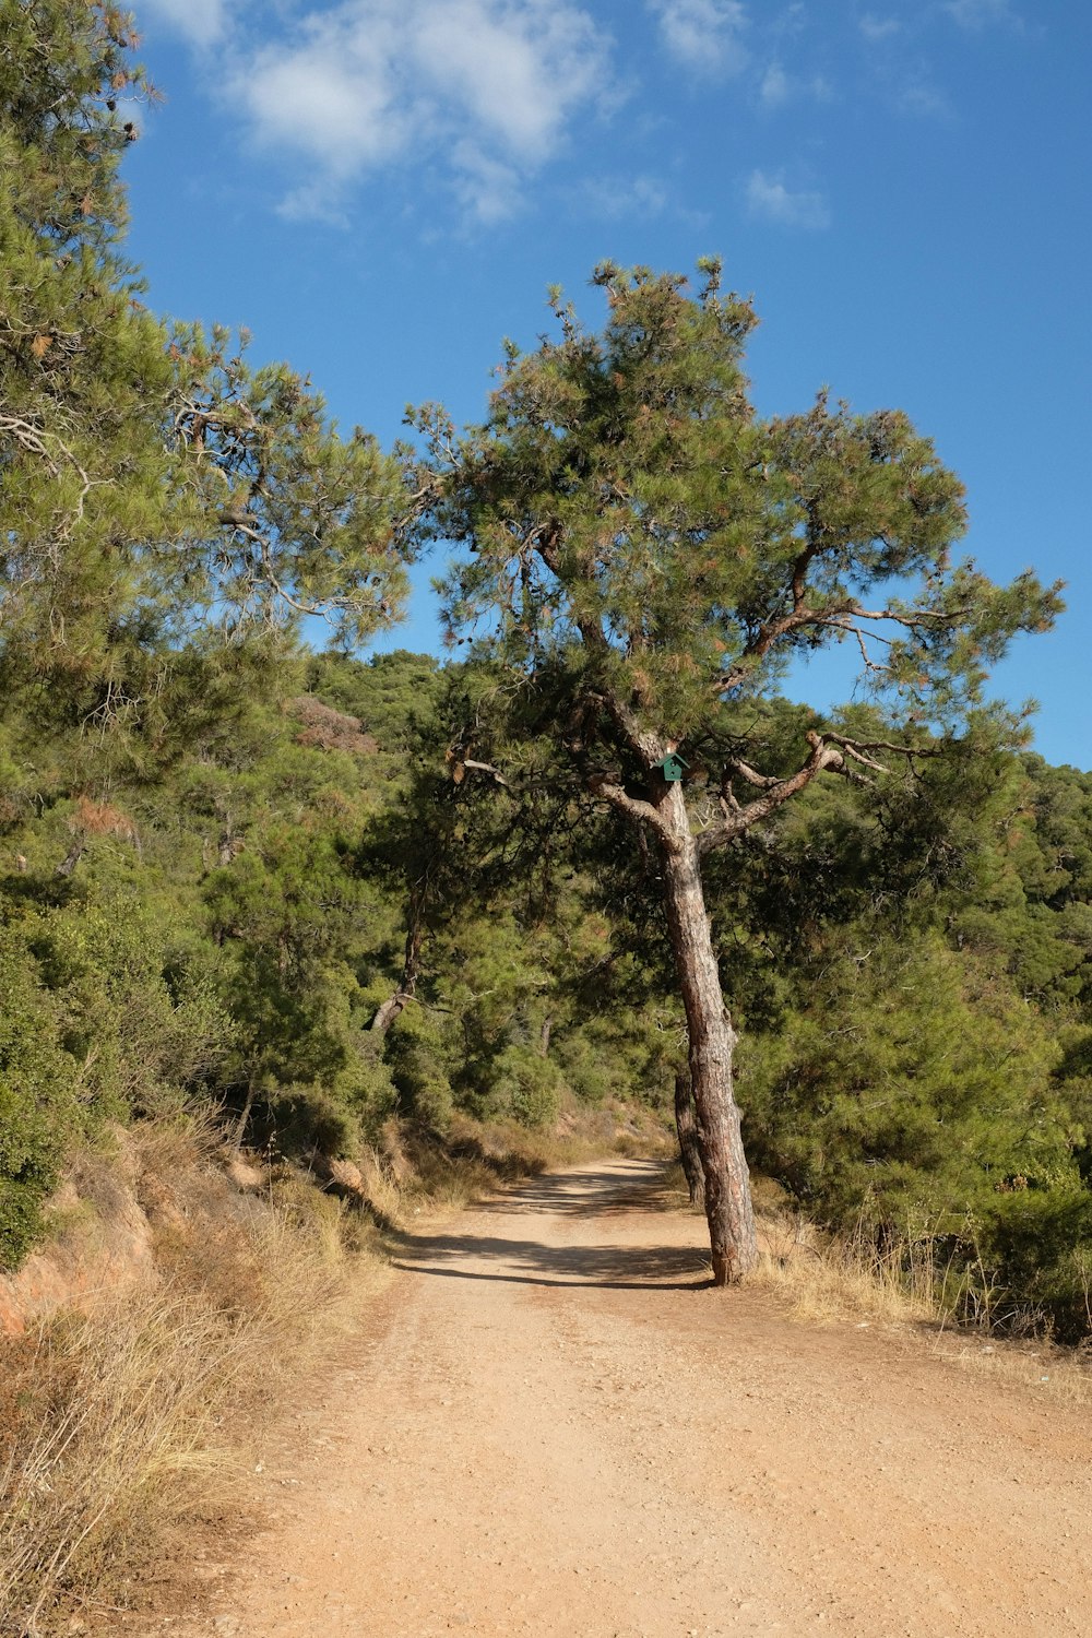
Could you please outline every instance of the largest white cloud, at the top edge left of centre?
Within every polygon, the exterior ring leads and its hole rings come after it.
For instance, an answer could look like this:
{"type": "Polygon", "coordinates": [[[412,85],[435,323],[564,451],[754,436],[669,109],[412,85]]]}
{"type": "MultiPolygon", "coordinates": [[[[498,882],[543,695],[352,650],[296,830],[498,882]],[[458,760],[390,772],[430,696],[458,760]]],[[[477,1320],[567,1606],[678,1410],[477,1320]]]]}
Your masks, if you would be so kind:
{"type": "Polygon", "coordinates": [[[288,213],[313,195],[329,218],[337,185],[414,157],[483,221],[517,208],[573,116],[612,88],[609,41],[571,0],[342,0],[285,39],[239,44],[229,82],[259,143],[316,167],[288,213]]]}

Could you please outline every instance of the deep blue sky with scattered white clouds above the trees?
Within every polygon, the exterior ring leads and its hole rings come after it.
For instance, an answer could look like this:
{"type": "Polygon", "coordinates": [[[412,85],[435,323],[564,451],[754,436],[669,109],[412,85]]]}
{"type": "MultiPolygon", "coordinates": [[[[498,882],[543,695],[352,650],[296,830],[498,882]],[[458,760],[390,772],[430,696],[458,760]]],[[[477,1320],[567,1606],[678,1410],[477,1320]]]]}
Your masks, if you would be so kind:
{"type": "MultiPolygon", "coordinates": [[[[1076,0],[144,0],[151,301],[246,324],[383,442],[485,406],[545,287],[724,257],[763,413],[899,406],[994,578],[1071,613],[997,691],[1092,767],[1092,8],[1076,0]]],[[[437,647],[427,572],[388,645],[437,647]]],[[[792,691],[828,703],[830,673],[792,691]]]]}

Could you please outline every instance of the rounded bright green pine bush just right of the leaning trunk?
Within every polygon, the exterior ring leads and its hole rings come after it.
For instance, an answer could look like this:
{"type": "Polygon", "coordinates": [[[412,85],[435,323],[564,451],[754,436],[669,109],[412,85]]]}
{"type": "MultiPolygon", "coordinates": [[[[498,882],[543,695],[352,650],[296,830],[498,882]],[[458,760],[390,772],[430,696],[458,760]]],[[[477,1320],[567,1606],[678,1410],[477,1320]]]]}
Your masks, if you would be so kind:
{"type": "Polygon", "coordinates": [[[938,937],[825,952],[805,1004],[745,1040],[753,1160],[822,1220],[959,1222],[1012,1178],[1076,1178],[1051,1030],[938,937]]]}

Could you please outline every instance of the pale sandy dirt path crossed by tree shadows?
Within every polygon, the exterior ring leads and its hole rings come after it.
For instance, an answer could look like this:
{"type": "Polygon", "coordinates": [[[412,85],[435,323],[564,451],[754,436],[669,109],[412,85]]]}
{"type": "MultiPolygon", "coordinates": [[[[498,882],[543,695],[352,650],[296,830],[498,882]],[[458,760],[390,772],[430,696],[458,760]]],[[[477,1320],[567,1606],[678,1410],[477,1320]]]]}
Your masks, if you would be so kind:
{"type": "Polygon", "coordinates": [[[702,1289],[704,1225],[655,1181],[583,1166],[408,1237],[185,1631],[1092,1633],[1085,1419],[1031,1363],[1004,1387],[702,1289]]]}

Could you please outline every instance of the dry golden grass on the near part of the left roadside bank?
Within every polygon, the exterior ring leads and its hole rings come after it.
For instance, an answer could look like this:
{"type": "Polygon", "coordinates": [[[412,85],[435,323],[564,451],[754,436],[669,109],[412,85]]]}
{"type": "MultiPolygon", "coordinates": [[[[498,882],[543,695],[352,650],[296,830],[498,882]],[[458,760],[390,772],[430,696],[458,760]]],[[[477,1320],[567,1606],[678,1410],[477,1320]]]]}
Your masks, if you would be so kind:
{"type": "MultiPolygon", "coordinates": [[[[195,1170],[183,1138],[157,1142],[195,1170]]],[[[231,1509],[293,1379],[342,1327],[337,1202],[283,1179],[219,1217],[172,1188],[157,1284],[54,1317],[0,1358],[5,1638],[124,1600],[169,1532],[231,1509]]]]}

